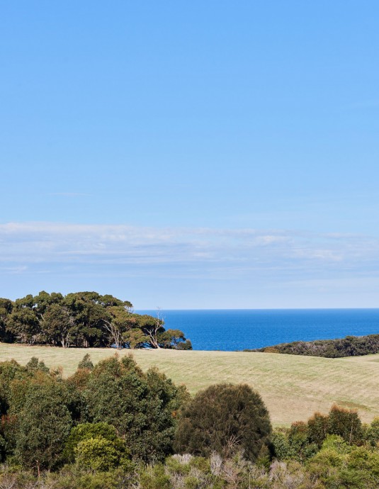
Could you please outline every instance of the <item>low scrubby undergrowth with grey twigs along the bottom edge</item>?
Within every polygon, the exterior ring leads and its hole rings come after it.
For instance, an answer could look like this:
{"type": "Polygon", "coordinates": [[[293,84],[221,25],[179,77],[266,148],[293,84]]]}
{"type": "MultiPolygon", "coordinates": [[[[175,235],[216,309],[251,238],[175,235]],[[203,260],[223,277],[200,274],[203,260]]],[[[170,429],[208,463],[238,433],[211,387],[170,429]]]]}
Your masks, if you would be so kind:
{"type": "Polygon", "coordinates": [[[58,473],[36,478],[28,471],[0,471],[0,487],[14,489],[378,489],[378,450],[338,440],[325,442],[306,463],[251,463],[240,455],[169,456],[154,466],[94,471],[64,466],[58,473]]]}

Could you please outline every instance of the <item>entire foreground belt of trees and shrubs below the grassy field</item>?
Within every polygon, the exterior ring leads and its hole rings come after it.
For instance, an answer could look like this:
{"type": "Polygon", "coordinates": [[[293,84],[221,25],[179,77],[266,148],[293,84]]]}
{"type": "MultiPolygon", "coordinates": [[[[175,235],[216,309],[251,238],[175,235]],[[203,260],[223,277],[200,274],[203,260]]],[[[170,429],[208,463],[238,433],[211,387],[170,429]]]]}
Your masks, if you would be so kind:
{"type": "Polygon", "coordinates": [[[273,430],[249,386],[191,398],[131,356],[70,378],[2,362],[0,414],[0,488],[378,489],[378,418],[334,406],[273,430]]]}

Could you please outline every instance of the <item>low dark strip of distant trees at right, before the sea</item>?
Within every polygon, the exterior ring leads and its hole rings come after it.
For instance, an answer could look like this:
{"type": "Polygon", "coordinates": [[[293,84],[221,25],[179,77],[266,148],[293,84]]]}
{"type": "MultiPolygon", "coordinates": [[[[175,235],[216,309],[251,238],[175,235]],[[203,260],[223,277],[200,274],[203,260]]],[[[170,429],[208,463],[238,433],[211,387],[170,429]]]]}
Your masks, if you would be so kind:
{"type": "Polygon", "coordinates": [[[341,339],[281,343],[273,347],[245,349],[244,352],[285,353],[289,355],[324,356],[325,358],[369,355],[379,353],[379,335],[346,336],[341,339]]]}

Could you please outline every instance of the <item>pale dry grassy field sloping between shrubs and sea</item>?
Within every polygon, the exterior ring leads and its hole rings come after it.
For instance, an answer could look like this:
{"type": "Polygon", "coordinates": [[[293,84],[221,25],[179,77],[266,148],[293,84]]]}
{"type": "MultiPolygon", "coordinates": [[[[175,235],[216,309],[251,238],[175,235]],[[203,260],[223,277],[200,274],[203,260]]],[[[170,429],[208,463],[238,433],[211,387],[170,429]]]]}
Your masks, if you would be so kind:
{"type": "MultiPolygon", "coordinates": [[[[115,354],[113,349],[62,349],[1,344],[0,360],[26,364],[37,356],[50,367],[62,366],[69,376],[84,354],[92,361],[115,354]]],[[[129,354],[128,350],[120,355],[129,354]]],[[[135,350],[142,369],[157,366],[191,393],[212,383],[248,383],[264,399],[275,425],[306,420],[315,411],[327,412],[333,403],[359,411],[368,422],[379,416],[379,355],[322,359],[244,352],[178,352],[135,350]]]]}

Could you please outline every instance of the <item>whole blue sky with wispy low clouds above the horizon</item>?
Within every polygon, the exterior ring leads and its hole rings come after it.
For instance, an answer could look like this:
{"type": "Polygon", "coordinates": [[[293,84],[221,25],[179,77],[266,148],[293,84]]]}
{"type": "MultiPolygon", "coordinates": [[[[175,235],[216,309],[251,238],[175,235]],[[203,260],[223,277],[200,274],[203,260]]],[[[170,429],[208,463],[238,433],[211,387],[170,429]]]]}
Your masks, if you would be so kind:
{"type": "Polygon", "coordinates": [[[379,2],[3,1],[0,296],[378,307],[379,2]]]}

